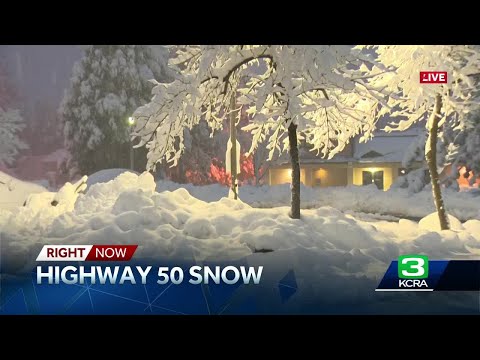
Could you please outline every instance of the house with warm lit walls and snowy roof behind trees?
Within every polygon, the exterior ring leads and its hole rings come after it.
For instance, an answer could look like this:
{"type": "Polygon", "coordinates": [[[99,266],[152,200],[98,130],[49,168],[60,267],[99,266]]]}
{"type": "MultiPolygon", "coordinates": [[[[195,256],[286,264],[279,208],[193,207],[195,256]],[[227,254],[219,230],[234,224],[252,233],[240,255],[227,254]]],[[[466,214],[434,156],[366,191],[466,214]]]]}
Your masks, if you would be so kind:
{"type": "MultiPolygon", "coordinates": [[[[366,143],[354,138],[330,160],[300,147],[300,181],[306,186],[321,187],[373,183],[379,189],[388,190],[398,176],[407,172],[402,166],[405,152],[423,131],[422,127],[391,133],[379,131],[366,143]]],[[[270,185],[290,183],[288,156],[282,156],[273,164],[268,175],[270,185]]]]}

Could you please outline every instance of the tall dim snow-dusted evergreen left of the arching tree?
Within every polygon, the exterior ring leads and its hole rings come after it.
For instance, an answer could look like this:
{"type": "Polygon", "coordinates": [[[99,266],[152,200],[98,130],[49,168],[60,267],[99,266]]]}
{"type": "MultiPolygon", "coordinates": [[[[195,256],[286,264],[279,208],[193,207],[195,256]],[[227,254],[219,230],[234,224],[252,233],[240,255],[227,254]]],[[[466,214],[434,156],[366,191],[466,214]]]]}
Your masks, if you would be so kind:
{"type": "MultiPolygon", "coordinates": [[[[60,115],[72,160],[82,173],[129,167],[128,118],[148,101],[151,79],[166,79],[166,58],[147,45],[92,45],[75,64],[60,115]]],[[[137,169],[145,154],[136,151],[137,169]]]]}

